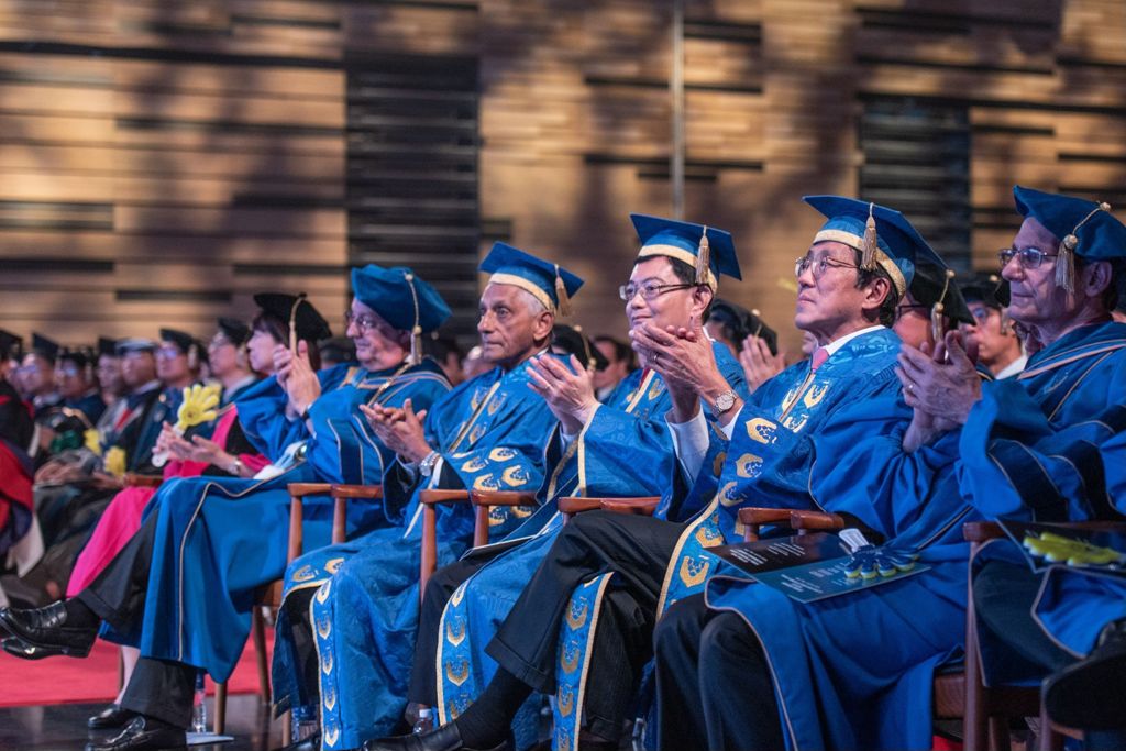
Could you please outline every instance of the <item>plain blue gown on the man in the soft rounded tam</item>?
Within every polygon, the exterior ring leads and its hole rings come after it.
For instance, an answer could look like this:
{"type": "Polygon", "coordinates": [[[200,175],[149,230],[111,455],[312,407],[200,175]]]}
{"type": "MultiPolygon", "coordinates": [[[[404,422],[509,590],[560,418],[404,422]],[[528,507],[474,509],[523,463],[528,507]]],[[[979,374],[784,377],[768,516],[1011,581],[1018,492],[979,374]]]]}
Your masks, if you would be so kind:
{"type": "MultiPolygon", "coordinates": [[[[248,439],[274,462],[288,442],[303,441],[305,450],[271,480],[186,477],[162,485],[145,508],[158,521],[144,617],[133,633],[107,636],[138,645],[144,656],[197,665],[226,680],[249,634],[257,590],[285,572],[287,484],[378,482],[388,452],[357,405],[411,399],[426,409],[449,387],[432,360],[393,376],[394,369],[349,366],[318,374],[322,394],[310,409],[312,430],[285,417],[276,378],[248,390],[238,401],[248,439]]],[[[320,499],[305,508],[305,545],[327,544],[331,504],[320,499]]],[[[348,521],[356,528],[381,520],[378,510],[358,509],[348,521]]]]}

